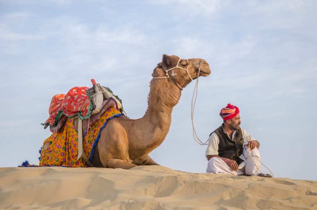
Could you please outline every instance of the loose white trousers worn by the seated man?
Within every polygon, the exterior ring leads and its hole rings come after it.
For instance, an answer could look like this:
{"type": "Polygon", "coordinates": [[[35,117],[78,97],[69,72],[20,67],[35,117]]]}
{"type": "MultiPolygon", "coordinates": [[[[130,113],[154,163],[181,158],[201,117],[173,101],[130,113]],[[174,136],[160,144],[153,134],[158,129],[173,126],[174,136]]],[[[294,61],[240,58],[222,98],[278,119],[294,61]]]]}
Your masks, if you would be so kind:
{"type": "Polygon", "coordinates": [[[233,171],[230,168],[230,166],[228,166],[227,163],[225,163],[222,159],[220,159],[218,157],[213,157],[213,158],[210,158],[210,160],[207,163],[206,173],[231,174],[231,175],[236,175],[236,176],[239,176],[242,174],[247,174],[247,175],[257,176],[258,174],[261,173],[261,167],[260,167],[260,161],[259,161],[261,159],[260,159],[259,150],[257,148],[254,148],[252,150],[253,154],[251,153],[251,151],[249,151],[249,152],[250,152],[251,156],[249,156],[248,147],[243,148],[242,155],[245,158],[245,162],[243,162],[239,165],[239,170],[237,170],[237,171],[233,171]],[[251,158],[253,161],[251,160],[251,158]]]}

